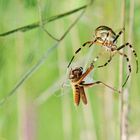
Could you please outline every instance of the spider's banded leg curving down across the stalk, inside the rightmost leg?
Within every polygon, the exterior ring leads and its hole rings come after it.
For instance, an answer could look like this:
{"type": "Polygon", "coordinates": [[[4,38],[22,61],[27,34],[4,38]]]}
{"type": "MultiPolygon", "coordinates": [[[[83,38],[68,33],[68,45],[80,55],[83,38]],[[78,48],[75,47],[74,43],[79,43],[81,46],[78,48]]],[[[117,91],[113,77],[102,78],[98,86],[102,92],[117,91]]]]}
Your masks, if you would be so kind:
{"type": "Polygon", "coordinates": [[[124,84],[122,85],[122,87],[124,87],[125,84],[126,84],[126,82],[127,82],[127,80],[128,80],[129,77],[130,77],[130,74],[131,74],[131,65],[130,65],[129,58],[128,58],[128,56],[127,56],[125,53],[121,53],[120,51],[117,51],[117,52],[118,52],[120,55],[122,55],[123,57],[125,57],[125,58],[126,58],[126,61],[127,61],[127,63],[128,63],[129,74],[127,75],[126,80],[125,80],[124,84]]]}

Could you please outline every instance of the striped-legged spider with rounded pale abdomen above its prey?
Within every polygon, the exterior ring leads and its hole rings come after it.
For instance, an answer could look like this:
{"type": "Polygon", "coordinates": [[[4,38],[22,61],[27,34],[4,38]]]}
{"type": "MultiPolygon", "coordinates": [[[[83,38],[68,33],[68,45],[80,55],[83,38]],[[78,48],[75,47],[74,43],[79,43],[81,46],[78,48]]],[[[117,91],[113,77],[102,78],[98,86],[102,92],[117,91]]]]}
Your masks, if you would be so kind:
{"type": "MultiPolygon", "coordinates": [[[[126,84],[126,82],[128,81],[130,74],[131,74],[131,65],[130,65],[130,61],[128,56],[125,53],[120,52],[120,50],[122,48],[125,47],[129,47],[132,51],[132,53],[135,56],[135,60],[136,60],[136,73],[138,73],[138,57],[136,54],[136,51],[133,49],[132,45],[130,43],[125,43],[123,45],[121,45],[120,47],[117,47],[117,39],[119,38],[119,36],[124,32],[124,28],[118,33],[116,34],[110,27],[107,26],[99,26],[95,29],[95,39],[92,41],[87,41],[85,42],[82,47],[78,48],[75,51],[75,54],[73,55],[73,57],[71,58],[69,64],[68,64],[68,68],[70,67],[72,61],[74,60],[75,56],[82,50],[82,48],[84,48],[85,46],[88,45],[88,47],[90,48],[93,44],[97,44],[100,45],[101,47],[104,47],[106,49],[106,51],[110,52],[110,57],[108,59],[108,61],[106,63],[104,63],[103,65],[97,66],[97,68],[101,68],[106,66],[109,62],[111,62],[113,56],[115,54],[119,54],[121,56],[123,56],[126,59],[126,62],[128,64],[128,70],[129,73],[126,77],[126,80],[124,81],[122,87],[124,87],[124,85],[126,84]]],[[[99,56],[97,56],[96,58],[98,58],[99,56]]]]}

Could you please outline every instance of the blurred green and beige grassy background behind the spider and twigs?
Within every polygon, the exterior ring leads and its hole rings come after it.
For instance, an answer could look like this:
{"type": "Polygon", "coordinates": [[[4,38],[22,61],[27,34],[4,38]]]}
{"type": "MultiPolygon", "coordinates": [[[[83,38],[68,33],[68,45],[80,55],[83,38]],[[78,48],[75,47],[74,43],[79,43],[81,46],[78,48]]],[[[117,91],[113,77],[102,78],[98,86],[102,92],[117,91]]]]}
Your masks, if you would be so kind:
{"type": "MultiPolygon", "coordinates": [[[[0,0],[0,33],[16,29],[42,19],[68,12],[87,4],[84,0],[0,0]],[[40,7],[40,11],[39,11],[40,7]]],[[[128,40],[130,2],[126,0],[126,40],[128,40]]],[[[121,0],[96,0],[90,5],[77,24],[55,48],[38,70],[0,106],[0,140],[118,140],[119,139],[119,95],[110,89],[95,86],[86,90],[88,105],[79,107],[73,104],[69,81],[63,89],[67,65],[74,51],[84,42],[93,38],[94,29],[107,25],[114,31],[121,29],[121,0]]],[[[56,38],[60,38],[79,13],[46,24],[44,27],[56,38]]],[[[140,1],[135,0],[133,42],[140,52],[140,1]]],[[[0,37],[0,99],[5,98],[29,71],[44,56],[46,50],[56,41],[42,29],[16,32],[0,37]]],[[[120,42],[118,41],[118,45],[120,42]]],[[[85,68],[96,57],[100,47],[83,50],[75,59],[74,65],[85,68]],[[89,51],[90,50],[90,51],[89,51]]],[[[104,49],[103,49],[104,51],[104,49]]],[[[100,61],[108,58],[106,52],[100,61]]],[[[140,60],[139,60],[140,61],[140,60]]],[[[132,74],[129,102],[129,137],[140,139],[140,73],[135,74],[135,61],[132,56],[132,74]]],[[[124,67],[125,68],[125,67],[124,67]]],[[[124,77],[126,77],[124,70],[124,77]]],[[[118,88],[119,57],[105,68],[95,69],[91,78],[101,80],[118,88]]],[[[126,86],[127,87],[127,86],[126,86]]]]}

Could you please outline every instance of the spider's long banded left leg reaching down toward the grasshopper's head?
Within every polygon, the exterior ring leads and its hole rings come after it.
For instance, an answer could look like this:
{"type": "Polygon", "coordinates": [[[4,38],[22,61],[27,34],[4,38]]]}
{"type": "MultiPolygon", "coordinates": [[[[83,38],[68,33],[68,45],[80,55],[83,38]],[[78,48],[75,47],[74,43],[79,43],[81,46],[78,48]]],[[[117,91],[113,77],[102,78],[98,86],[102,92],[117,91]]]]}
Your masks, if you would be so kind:
{"type": "Polygon", "coordinates": [[[82,50],[83,47],[85,47],[87,44],[89,44],[89,47],[90,47],[91,45],[93,45],[93,44],[95,43],[95,41],[96,41],[96,40],[85,42],[85,43],[82,45],[82,47],[78,48],[78,49],[75,51],[73,57],[71,58],[71,60],[70,60],[70,62],[69,62],[69,64],[68,64],[68,66],[67,66],[67,68],[70,67],[70,65],[71,65],[71,63],[72,63],[72,61],[73,61],[73,59],[74,59],[75,56],[82,50]]]}

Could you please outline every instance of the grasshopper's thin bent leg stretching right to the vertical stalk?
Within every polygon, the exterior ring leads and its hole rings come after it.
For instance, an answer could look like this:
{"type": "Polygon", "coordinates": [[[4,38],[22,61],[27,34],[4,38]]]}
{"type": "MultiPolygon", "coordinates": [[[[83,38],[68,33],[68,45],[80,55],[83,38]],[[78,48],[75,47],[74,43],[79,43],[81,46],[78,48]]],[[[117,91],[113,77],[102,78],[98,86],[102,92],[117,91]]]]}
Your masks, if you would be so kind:
{"type": "Polygon", "coordinates": [[[82,84],[82,83],[81,83],[80,85],[82,85],[82,86],[84,86],[84,87],[91,87],[91,86],[94,86],[94,85],[97,85],[97,84],[102,84],[102,85],[104,85],[104,86],[110,88],[110,89],[113,90],[113,91],[116,91],[116,92],[118,92],[118,93],[121,93],[121,91],[119,91],[119,90],[117,90],[117,89],[115,89],[115,88],[113,88],[113,87],[111,87],[111,86],[105,84],[105,83],[102,82],[102,81],[96,81],[96,82],[87,83],[87,84],[82,84]]]}

